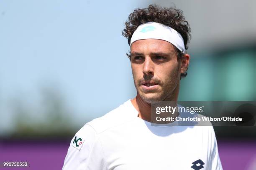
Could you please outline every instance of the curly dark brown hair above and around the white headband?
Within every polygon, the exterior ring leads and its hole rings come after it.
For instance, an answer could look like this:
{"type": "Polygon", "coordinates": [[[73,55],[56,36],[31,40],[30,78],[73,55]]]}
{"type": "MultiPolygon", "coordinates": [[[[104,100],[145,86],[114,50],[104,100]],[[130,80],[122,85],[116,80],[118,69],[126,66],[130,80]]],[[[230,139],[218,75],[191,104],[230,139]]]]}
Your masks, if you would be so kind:
{"type": "MultiPolygon", "coordinates": [[[[175,7],[160,7],[158,5],[149,5],[147,8],[136,9],[129,15],[129,19],[125,22],[126,28],[123,29],[122,35],[128,38],[128,44],[131,43],[131,37],[133,32],[138,28],[139,25],[148,22],[156,22],[167,25],[182,35],[184,40],[185,49],[188,49],[188,43],[191,39],[189,23],[185,20],[182,10],[178,10],[175,7]]],[[[174,46],[177,52],[178,60],[184,57],[184,54],[174,46]]],[[[131,60],[130,51],[126,55],[131,60]]],[[[181,74],[182,77],[186,77],[187,72],[181,74]]]]}

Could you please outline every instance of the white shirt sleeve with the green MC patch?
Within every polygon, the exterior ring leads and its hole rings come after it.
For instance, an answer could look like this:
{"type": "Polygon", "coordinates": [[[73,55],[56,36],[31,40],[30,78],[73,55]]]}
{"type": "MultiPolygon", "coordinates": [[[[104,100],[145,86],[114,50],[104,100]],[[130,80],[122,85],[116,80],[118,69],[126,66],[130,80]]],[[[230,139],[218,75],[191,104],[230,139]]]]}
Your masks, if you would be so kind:
{"type": "Polygon", "coordinates": [[[105,170],[99,137],[90,125],[84,125],[71,140],[62,170],[105,170]]]}

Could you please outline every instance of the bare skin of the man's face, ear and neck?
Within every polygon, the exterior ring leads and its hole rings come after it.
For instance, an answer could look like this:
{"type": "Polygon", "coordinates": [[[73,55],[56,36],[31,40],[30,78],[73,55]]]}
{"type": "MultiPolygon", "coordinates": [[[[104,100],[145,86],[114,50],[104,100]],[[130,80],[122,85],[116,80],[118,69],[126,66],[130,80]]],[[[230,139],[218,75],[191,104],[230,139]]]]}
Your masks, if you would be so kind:
{"type": "Polygon", "coordinates": [[[174,46],[164,40],[137,40],[131,45],[131,68],[137,95],[131,100],[138,117],[151,122],[151,104],[176,101],[180,74],[189,65],[188,54],[177,59],[174,46]]]}

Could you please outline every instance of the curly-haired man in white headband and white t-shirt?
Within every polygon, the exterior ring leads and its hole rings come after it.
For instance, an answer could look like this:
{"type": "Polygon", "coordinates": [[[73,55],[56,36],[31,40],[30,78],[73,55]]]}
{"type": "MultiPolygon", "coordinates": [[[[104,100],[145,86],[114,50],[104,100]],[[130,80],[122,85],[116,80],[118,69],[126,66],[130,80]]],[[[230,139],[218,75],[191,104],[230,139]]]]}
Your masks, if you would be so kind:
{"type": "Polygon", "coordinates": [[[137,96],[85,124],[63,170],[221,170],[212,126],[151,125],[151,105],[177,101],[187,75],[190,28],[182,11],[149,5],[125,25],[137,96]]]}

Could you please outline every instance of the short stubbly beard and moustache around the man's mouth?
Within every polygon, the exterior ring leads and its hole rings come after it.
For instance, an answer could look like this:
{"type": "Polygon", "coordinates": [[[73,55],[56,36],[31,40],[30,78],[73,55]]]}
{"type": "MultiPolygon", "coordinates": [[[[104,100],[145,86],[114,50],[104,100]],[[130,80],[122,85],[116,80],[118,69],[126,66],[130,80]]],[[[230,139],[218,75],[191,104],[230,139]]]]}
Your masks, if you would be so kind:
{"type": "Polygon", "coordinates": [[[157,77],[152,75],[143,75],[143,78],[137,79],[136,76],[133,74],[133,81],[136,87],[138,95],[140,95],[141,99],[147,103],[155,104],[161,101],[172,101],[174,100],[174,95],[179,88],[179,67],[173,70],[165,80],[159,80],[157,77]],[[156,82],[161,88],[160,90],[156,90],[153,92],[143,92],[140,89],[141,82],[144,81],[153,81],[156,82]]]}

